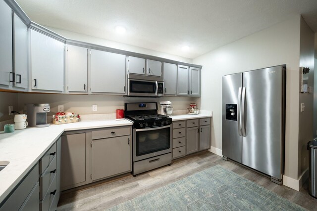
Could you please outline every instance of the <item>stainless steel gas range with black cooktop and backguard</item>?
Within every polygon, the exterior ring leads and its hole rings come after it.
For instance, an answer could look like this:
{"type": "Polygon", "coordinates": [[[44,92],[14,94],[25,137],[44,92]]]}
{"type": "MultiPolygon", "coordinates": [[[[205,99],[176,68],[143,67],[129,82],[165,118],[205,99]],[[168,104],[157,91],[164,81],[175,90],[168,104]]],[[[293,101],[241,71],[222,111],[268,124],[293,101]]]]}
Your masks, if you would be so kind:
{"type": "Polygon", "coordinates": [[[125,103],[124,116],[133,122],[133,170],[136,174],[172,163],[172,119],[158,114],[157,103],[125,103]]]}

